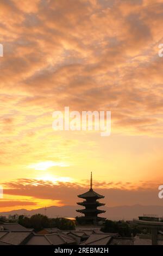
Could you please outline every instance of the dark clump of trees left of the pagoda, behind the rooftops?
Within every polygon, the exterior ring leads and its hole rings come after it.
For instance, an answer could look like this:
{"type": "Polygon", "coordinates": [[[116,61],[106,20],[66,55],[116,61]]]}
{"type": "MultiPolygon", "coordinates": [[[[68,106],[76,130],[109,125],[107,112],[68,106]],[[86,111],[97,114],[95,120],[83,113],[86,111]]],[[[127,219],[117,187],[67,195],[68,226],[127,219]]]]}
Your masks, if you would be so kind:
{"type": "Polygon", "coordinates": [[[75,229],[75,223],[65,218],[48,218],[45,215],[35,214],[31,217],[20,215],[18,223],[26,228],[33,228],[35,231],[40,231],[43,228],[59,228],[65,230],[75,229]]]}

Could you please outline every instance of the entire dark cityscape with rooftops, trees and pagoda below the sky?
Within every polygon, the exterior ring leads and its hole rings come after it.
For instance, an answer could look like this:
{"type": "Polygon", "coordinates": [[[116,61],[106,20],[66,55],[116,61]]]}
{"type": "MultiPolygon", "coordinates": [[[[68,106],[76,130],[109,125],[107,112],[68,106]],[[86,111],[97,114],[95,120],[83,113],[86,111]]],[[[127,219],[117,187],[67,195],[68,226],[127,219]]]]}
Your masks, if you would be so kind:
{"type": "Polygon", "coordinates": [[[93,190],[92,172],[89,191],[79,194],[85,209],[74,217],[47,217],[45,214],[0,216],[0,245],[163,245],[163,217],[143,214],[133,220],[111,221],[99,217],[105,210],[93,190]]]}

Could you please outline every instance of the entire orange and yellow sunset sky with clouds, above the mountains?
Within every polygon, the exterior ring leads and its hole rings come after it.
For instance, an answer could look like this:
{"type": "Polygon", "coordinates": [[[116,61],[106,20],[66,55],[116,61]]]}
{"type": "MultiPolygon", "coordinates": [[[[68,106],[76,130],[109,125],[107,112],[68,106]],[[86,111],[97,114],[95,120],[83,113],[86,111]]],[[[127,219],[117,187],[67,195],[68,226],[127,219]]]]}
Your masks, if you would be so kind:
{"type": "Polygon", "coordinates": [[[0,211],[163,205],[163,0],[1,0],[0,211]],[[111,111],[111,135],[54,111],[111,111]]]}

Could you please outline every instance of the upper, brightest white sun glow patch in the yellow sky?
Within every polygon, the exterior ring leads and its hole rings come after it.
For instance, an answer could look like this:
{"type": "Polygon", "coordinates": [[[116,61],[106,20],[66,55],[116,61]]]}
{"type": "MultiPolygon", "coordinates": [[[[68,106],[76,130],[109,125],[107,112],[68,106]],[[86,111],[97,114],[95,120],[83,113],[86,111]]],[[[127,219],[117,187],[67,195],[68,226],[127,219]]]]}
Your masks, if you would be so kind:
{"type": "Polygon", "coordinates": [[[64,162],[53,162],[53,161],[45,161],[39,163],[29,164],[27,168],[35,169],[35,170],[47,170],[50,167],[59,166],[59,167],[68,167],[69,164],[64,162]]]}

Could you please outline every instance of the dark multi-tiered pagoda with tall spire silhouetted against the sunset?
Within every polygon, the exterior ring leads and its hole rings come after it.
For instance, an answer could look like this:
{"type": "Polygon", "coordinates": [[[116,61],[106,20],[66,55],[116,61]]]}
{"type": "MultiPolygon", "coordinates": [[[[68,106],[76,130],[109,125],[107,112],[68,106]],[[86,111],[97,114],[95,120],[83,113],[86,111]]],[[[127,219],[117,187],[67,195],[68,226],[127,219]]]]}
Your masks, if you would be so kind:
{"type": "Polygon", "coordinates": [[[86,224],[97,224],[99,221],[104,221],[105,218],[98,217],[98,214],[102,214],[103,210],[97,209],[97,207],[105,205],[103,203],[99,203],[97,199],[104,198],[104,196],[101,196],[101,194],[96,193],[92,189],[92,172],[91,172],[91,182],[90,182],[90,190],[87,191],[84,194],[79,194],[79,198],[85,199],[81,203],[77,203],[78,205],[82,205],[85,207],[85,209],[82,210],[76,210],[77,212],[80,212],[84,214],[85,216],[82,216],[83,222],[86,224]]]}

